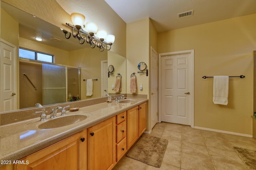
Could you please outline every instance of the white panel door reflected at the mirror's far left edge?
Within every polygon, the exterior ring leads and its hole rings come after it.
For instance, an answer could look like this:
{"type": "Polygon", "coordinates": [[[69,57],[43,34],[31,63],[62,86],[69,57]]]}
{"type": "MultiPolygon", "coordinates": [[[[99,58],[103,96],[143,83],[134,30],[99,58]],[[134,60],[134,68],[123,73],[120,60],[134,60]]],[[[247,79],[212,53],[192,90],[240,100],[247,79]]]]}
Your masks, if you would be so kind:
{"type": "Polygon", "coordinates": [[[0,55],[0,111],[17,109],[16,46],[1,40],[0,55]]]}

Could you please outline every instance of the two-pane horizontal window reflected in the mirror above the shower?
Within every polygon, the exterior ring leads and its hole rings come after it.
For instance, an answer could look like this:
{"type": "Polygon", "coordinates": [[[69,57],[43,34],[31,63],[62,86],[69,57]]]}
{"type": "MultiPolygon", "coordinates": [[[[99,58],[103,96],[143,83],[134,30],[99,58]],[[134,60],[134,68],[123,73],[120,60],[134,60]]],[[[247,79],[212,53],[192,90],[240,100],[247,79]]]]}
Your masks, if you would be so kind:
{"type": "Polygon", "coordinates": [[[20,48],[19,55],[20,55],[20,58],[34,59],[38,61],[53,63],[53,55],[50,55],[50,54],[45,54],[45,53],[40,53],[40,52],[20,48]]]}

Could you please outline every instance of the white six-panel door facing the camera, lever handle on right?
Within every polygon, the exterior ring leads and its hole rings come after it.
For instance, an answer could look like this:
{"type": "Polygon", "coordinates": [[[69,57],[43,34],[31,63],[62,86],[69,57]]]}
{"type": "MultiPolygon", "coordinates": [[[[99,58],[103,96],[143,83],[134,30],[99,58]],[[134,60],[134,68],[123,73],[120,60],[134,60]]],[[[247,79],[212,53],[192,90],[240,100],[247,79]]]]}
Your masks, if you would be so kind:
{"type": "Polygon", "coordinates": [[[191,54],[161,57],[162,121],[191,125],[192,71],[191,54]]]}

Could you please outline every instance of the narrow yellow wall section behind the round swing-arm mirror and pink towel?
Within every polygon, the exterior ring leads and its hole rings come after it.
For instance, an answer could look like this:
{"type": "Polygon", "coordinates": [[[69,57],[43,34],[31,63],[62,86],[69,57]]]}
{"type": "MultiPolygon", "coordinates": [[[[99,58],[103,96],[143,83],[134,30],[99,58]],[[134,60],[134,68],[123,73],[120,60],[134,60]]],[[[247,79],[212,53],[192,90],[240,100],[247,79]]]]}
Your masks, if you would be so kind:
{"type": "Polygon", "coordinates": [[[137,22],[128,23],[126,26],[126,76],[127,90],[130,93],[130,75],[135,72],[137,76],[137,93],[148,94],[149,77],[146,74],[137,73],[138,63],[145,62],[149,65],[149,18],[137,22]],[[143,90],[140,90],[140,83],[143,84],[143,90]]]}

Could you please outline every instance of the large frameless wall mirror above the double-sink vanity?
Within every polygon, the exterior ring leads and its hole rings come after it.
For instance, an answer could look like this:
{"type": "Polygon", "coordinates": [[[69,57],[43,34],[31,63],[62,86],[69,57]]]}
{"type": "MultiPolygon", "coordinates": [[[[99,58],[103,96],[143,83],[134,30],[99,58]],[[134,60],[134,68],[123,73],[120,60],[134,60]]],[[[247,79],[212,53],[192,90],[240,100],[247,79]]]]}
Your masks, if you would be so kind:
{"type": "MultiPolygon", "coordinates": [[[[126,93],[125,57],[112,51],[92,49],[88,44],[80,44],[73,37],[67,40],[57,26],[2,1],[0,16],[1,49],[4,42],[15,47],[16,55],[13,65],[16,71],[12,75],[16,76],[16,91],[10,92],[15,93],[16,104],[10,110],[35,107],[36,103],[49,105],[68,102],[73,96],[75,99],[79,97],[84,100],[112,94],[108,86],[114,83],[114,79],[108,78],[108,65],[113,65],[116,73],[124,75],[121,93],[126,93]],[[36,41],[36,37],[43,41],[36,41]],[[20,58],[20,48],[53,55],[53,63],[20,58]],[[57,81],[59,79],[61,82],[57,81]],[[86,95],[87,79],[94,79],[92,95],[86,95]]],[[[2,64],[2,60],[0,61],[2,64]]],[[[0,72],[2,81],[3,68],[0,72]]],[[[2,96],[0,102],[3,102],[2,96]]]]}

